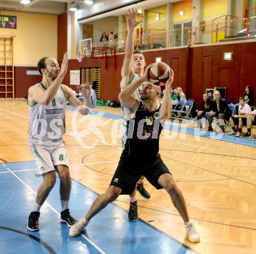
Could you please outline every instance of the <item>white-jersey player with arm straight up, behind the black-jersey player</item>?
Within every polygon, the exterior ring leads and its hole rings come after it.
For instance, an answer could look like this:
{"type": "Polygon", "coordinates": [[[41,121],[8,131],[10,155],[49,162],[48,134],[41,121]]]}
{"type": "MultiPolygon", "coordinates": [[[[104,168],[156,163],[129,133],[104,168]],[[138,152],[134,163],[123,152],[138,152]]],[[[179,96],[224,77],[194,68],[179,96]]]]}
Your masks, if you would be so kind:
{"type": "MultiPolygon", "coordinates": [[[[137,10],[131,9],[128,13],[125,14],[126,22],[127,22],[127,38],[126,38],[126,46],[125,46],[125,59],[123,60],[122,66],[122,80],[120,82],[121,90],[124,89],[127,85],[134,83],[137,81],[144,73],[145,67],[145,58],[143,52],[140,50],[134,51],[134,43],[133,43],[133,32],[134,28],[141,21],[136,20],[137,10]]],[[[133,93],[134,98],[140,100],[140,93],[142,91],[142,86],[139,86],[133,93]]],[[[121,125],[121,139],[122,139],[122,147],[125,147],[125,143],[127,140],[126,128],[127,122],[125,120],[127,109],[121,106],[122,110],[122,125],[121,125]]],[[[140,180],[137,183],[137,190],[141,195],[145,198],[150,198],[150,194],[145,190],[143,186],[144,176],[141,176],[140,180]]],[[[130,209],[128,213],[129,220],[131,222],[136,222],[138,220],[138,205],[136,201],[136,190],[133,191],[133,194],[130,195],[130,209]]]]}

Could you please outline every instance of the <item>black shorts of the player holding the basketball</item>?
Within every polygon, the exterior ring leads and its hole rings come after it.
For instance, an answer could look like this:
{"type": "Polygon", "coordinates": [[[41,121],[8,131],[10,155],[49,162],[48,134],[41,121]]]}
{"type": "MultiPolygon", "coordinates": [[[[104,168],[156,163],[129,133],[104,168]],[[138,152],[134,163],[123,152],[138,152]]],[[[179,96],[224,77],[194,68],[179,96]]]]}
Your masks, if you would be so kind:
{"type": "Polygon", "coordinates": [[[162,186],[158,183],[158,179],[164,173],[170,174],[170,171],[163,163],[160,155],[147,168],[137,167],[134,164],[131,165],[121,158],[109,186],[122,188],[121,195],[131,195],[138,179],[141,176],[145,176],[148,182],[159,190],[162,186]]]}

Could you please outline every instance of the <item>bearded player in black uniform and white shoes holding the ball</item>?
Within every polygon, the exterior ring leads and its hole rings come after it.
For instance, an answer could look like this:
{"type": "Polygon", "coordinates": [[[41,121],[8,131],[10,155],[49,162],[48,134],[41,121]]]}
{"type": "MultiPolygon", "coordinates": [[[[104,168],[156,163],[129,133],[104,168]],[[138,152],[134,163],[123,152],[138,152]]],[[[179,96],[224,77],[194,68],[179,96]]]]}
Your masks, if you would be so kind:
{"type": "Polygon", "coordinates": [[[149,68],[150,66],[145,70],[143,77],[126,86],[119,93],[120,102],[130,111],[130,114],[127,114],[129,118],[126,119],[128,128],[125,149],[108,190],[94,201],[87,215],[70,228],[70,237],[79,235],[90,219],[119,195],[131,194],[138,179],[143,175],[155,188],[165,188],[173,205],[184,220],[189,240],[191,242],[200,241],[200,234],[195,230],[194,224],[189,221],[183,195],[158,153],[162,125],[165,119],[170,118],[172,108],[170,86],[173,82],[173,71],[169,70],[169,79],[165,84],[165,95],[162,105],[159,106],[157,86],[148,82],[149,68]],[[143,83],[142,101],[140,102],[132,94],[143,83]]]}

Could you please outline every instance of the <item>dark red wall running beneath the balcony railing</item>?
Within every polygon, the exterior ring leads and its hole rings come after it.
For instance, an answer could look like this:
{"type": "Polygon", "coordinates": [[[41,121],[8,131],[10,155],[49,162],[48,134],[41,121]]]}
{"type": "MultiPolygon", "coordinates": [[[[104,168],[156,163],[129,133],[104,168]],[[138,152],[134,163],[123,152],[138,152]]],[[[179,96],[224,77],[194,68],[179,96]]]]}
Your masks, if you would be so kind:
{"type": "MultiPolygon", "coordinates": [[[[256,43],[243,42],[226,45],[196,46],[194,48],[179,48],[168,50],[154,50],[144,52],[147,64],[153,63],[155,57],[162,57],[175,72],[173,87],[181,86],[187,99],[201,104],[202,93],[206,88],[226,87],[227,99],[238,102],[243,95],[246,85],[253,87],[256,99],[256,43]],[[233,52],[232,61],[224,61],[224,52],[233,52]]],[[[119,82],[124,55],[116,56],[116,69],[113,60],[108,59],[105,70],[104,59],[86,59],[79,63],[69,61],[69,70],[79,70],[81,67],[101,67],[101,98],[104,100],[118,100],[119,82]]],[[[64,84],[69,84],[69,70],[64,84]]]]}

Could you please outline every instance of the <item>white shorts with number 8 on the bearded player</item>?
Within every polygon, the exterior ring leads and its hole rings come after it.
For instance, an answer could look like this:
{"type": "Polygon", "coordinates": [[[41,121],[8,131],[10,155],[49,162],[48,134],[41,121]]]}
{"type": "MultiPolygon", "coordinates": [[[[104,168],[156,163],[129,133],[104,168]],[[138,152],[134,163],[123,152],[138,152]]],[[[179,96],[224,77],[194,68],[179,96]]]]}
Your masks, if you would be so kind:
{"type": "Polygon", "coordinates": [[[35,176],[54,171],[55,166],[58,165],[69,166],[69,158],[63,139],[45,140],[42,144],[38,144],[37,140],[30,140],[29,146],[37,164],[35,176]]]}

